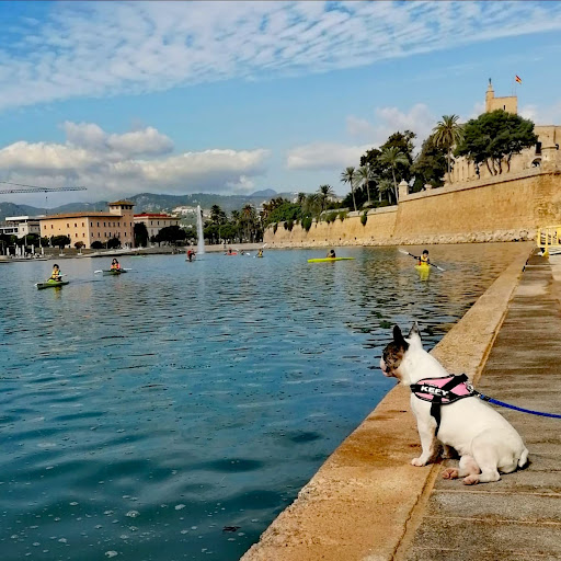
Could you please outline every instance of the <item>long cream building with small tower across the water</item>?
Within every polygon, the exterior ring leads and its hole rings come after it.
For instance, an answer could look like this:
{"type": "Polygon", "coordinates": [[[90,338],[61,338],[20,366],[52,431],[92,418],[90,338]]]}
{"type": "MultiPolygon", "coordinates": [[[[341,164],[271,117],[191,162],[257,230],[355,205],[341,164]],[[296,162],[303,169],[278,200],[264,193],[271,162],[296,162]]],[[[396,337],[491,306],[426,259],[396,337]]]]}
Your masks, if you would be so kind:
{"type": "Polygon", "coordinates": [[[67,213],[46,216],[41,219],[41,236],[68,236],[70,244],[81,241],[91,248],[94,241],[102,243],[118,238],[124,248],[135,247],[135,222],[129,201],[116,201],[108,204],[107,213],[67,213]]]}

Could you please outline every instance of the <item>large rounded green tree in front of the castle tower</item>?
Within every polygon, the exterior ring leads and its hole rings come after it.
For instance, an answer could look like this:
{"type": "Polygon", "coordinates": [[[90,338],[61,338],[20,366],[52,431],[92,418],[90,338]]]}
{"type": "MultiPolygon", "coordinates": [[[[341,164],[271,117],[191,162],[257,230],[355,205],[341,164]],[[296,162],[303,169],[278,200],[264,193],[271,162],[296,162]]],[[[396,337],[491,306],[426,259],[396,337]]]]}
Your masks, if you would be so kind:
{"type": "Polygon", "coordinates": [[[534,123],[503,110],[483,113],[463,126],[463,140],[456,156],[465,156],[476,165],[484,163],[491,175],[503,173],[503,163],[511,171],[511,159],[536,145],[534,123]]]}

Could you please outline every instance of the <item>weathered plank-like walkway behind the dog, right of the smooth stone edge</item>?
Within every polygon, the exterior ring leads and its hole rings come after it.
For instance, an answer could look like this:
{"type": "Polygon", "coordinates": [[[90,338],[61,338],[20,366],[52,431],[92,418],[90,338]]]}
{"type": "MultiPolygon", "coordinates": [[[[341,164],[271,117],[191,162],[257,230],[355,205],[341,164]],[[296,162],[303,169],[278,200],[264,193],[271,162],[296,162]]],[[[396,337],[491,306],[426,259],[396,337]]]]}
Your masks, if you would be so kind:
{"type": "MultiPolygon", "coordinates": [[[[554,259],[552,257],[552,261],[554,259]]],[[[561,283],[533,256],[514,294],[478,389],[526,409],[561,413],[561,283]]],[[[436,480],[396,559],[561,559],[561,420],[499,408],[530,451],[528,468],[466,488],[436,480]]],[[[451,465],[451,463],[450,463],[451,465]]]]}

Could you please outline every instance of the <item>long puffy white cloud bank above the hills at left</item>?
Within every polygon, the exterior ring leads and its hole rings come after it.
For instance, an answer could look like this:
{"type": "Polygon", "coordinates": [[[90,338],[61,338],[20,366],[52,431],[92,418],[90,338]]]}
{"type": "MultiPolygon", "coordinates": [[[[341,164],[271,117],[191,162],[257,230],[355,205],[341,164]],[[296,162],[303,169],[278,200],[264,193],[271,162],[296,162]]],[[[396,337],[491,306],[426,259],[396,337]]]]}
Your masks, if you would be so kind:
{"type": "Polygon", "coordinates": [[[265,149],[210,149],[161,157],[172,141],[152,127],[122,135],[65,123],[66,144],[25,141],[0,149],[0,174],[14,183],[83,185],[101,197],[157,193],[239,193],[265,171],[265,149]],[[154,156],[153,158],[139,158],[154,156]],[[156,156],[160,156],[159,158],[156,156]]]}

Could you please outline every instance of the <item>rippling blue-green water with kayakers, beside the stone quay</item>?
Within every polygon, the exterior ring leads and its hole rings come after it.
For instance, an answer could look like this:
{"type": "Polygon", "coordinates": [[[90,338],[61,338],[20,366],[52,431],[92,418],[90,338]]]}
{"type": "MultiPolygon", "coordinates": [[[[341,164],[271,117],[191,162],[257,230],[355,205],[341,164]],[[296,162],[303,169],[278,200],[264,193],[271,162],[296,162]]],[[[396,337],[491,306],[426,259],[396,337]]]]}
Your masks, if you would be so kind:
{"type": "Polygon", "coordinates": [[[433,346],[518,249],[0,265],[2,560],[239,559],[393,386],[391,324],[433,346]]]}

